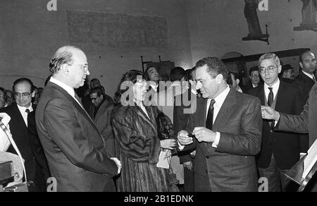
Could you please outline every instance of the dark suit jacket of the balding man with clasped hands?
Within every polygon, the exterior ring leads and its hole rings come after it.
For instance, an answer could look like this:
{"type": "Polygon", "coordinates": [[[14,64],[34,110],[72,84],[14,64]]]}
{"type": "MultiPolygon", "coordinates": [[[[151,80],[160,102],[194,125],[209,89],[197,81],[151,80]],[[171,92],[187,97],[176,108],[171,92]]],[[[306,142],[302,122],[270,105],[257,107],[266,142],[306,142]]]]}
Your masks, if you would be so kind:
{"type": "Polygon", "coordinates": [[[49,82],[36,112],[37,131],[58,191],[115,191],[118,167],[89,115],[66,90],[49,82]]]}

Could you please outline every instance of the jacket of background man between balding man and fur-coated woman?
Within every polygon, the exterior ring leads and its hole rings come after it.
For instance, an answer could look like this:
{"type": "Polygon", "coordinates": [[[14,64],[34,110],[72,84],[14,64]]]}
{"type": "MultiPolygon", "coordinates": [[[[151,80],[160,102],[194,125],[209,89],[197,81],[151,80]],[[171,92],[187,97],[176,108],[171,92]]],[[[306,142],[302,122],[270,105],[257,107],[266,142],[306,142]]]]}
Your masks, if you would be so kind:
{"type": "Polygon", "coordinates": [[[89,109],[89,116],[92,118],[96,124],[98,130],[100,131],[102,137],[104,138],[105,147],[111,157],[115,157],[114,149],[114,136],[113,129],[111,126],[111,114],[113,111],[113,102],[108,99],[104,99],[104,102],[101,103],[96,116],[94,117],[94,104],[89,109]]]}

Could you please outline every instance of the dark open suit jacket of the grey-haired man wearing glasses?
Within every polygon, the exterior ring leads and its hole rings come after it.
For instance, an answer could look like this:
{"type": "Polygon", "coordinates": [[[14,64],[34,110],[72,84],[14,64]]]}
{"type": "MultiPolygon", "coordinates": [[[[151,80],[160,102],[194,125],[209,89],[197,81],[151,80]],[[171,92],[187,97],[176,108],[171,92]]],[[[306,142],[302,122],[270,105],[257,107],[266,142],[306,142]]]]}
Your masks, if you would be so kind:
{"type": "MultiPolygon", "coordinates": [[[[259,97],[262,105],[266,105],[264,85],[250,90],[250,95],[259,97]]],[[[280,81],[276,97],[275,110],[287,114],[300,114],[304,99],[299,87],[280,81]]],[[[301,148],[301,140],[296,133],[273,131],[270,123],[263,120],[261,152],[257,156],[257,164],[260,168],[267,168],[274,154],[275,162],[280,169],[290,169],[298,160],[301,148]]]]}

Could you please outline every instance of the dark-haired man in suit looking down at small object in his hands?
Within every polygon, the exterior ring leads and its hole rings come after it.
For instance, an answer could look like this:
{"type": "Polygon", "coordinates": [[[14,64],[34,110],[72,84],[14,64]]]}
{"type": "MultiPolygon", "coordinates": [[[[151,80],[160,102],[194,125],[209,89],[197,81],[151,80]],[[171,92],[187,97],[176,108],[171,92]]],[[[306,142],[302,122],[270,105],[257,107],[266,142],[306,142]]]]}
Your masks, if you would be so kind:
{"type": "Polygon", "coordinates": [[[204,99],[197,99],[194,130],[178,133],[179,150],[197,148],[195,191],[256,191],[255,155],[262,129],[259,99],[230,90],[228,71],[216,57],[201,59],[196,68],[197,90],[204,99]]]}

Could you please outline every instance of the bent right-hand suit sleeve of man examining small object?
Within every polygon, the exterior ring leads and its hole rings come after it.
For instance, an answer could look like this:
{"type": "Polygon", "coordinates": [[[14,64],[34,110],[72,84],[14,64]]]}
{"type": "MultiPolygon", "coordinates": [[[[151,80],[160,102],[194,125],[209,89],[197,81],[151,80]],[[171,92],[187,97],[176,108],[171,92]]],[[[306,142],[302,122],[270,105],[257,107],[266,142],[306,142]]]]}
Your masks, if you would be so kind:
{"type": "Polygon", "coordinates": [[[252,98],[241,116],[242,135],[220,133],[216,152],[254,156],[260,152],[262,137],[261,103],[252,98]]]}

